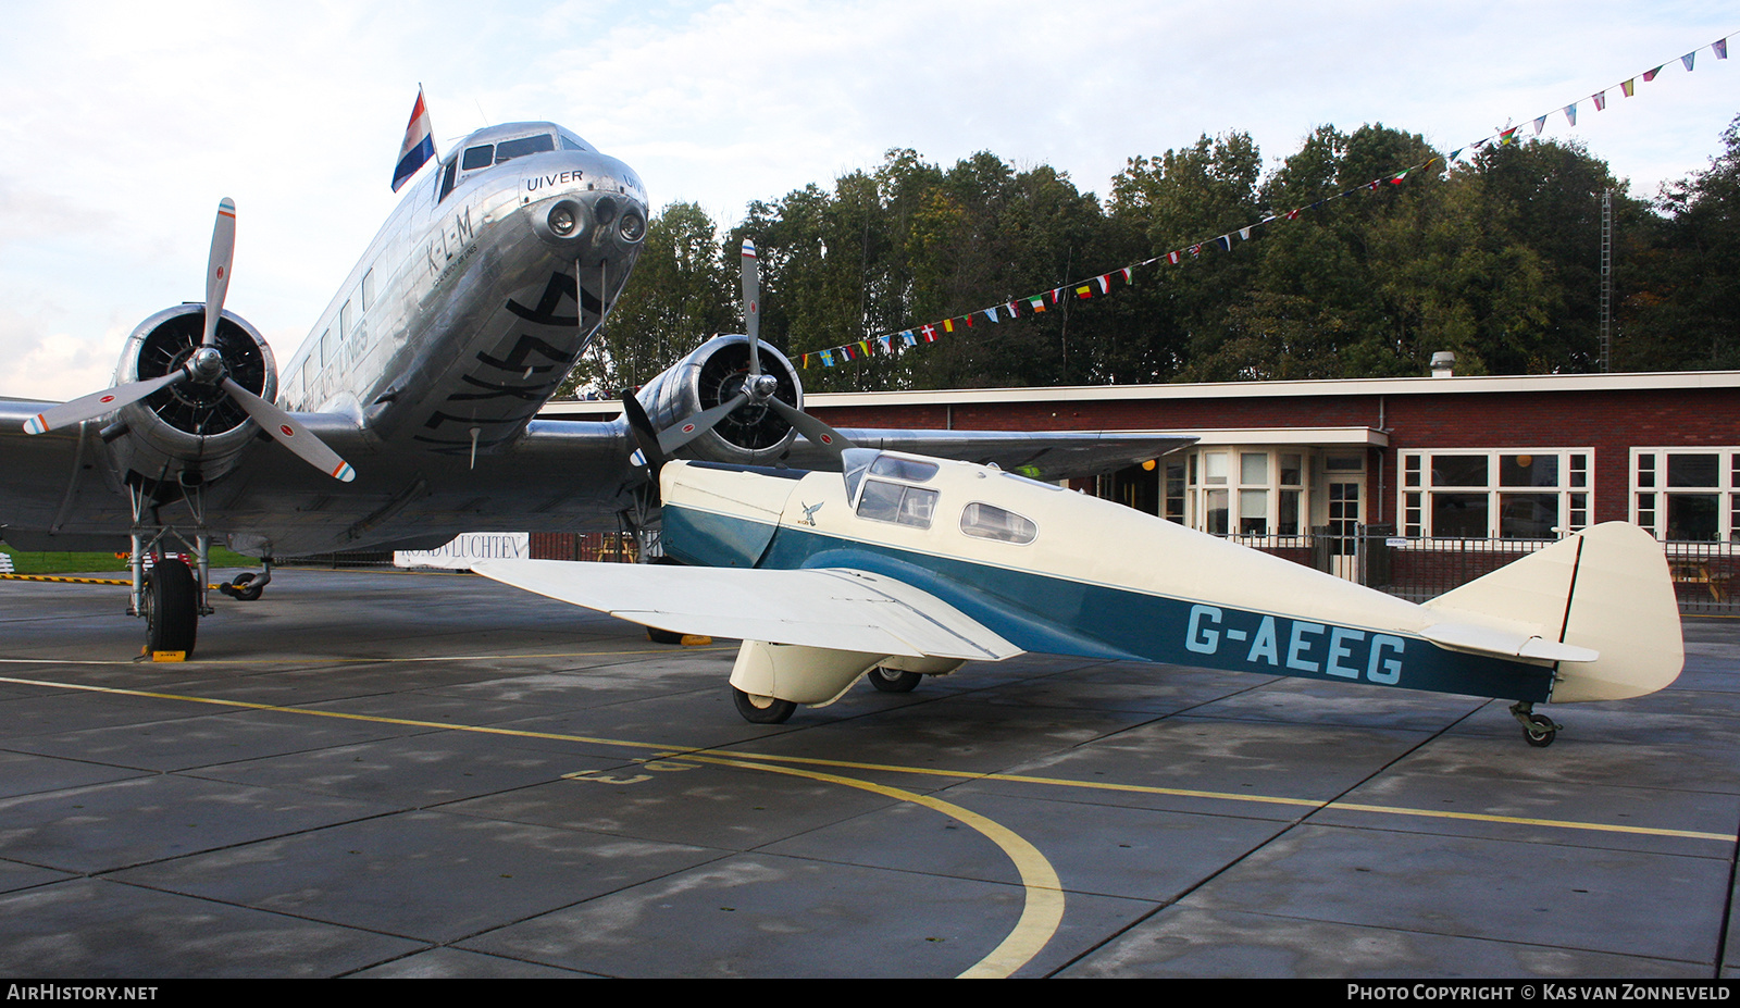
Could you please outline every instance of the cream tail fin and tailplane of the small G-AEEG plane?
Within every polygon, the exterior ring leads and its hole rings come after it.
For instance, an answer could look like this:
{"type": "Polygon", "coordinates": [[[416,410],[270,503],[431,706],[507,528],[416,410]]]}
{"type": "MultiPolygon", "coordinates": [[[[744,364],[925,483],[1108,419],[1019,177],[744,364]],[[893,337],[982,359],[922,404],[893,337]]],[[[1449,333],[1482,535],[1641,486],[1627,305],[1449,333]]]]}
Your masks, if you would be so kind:
{"type": "Polygon", "coordinates": [[[1425,608],[1425,637],[1451,648],[1557,662],[1554,703],[1625,700],[1679,677],[1679,604],[1662,545],[1629,522],[1599,524],[1425,608]]]}

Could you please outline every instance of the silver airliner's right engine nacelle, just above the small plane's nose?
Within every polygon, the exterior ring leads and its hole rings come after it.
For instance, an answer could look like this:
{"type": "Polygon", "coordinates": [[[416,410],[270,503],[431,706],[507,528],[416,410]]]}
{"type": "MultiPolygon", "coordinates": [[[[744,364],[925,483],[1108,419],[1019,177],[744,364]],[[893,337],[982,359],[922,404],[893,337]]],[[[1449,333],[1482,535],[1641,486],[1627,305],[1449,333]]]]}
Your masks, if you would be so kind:
{"type": "MultiPolygon", "coordinates": [[[[804,407],[804,386],[783,353],[760,345],[760,367],[778,383],[774,395],[795,409],[804,407]]],[[[712,409],[743,392],[750,374],[748,336],[715,336],[673,367],[647,381],[637,399],[654,430],[677,427],[703,409],[712,409]]],[[[745,402],[712,430],[680,449],[684,458],[771,465],[792,447],[795,432],[766,404],[745,402]]]]}

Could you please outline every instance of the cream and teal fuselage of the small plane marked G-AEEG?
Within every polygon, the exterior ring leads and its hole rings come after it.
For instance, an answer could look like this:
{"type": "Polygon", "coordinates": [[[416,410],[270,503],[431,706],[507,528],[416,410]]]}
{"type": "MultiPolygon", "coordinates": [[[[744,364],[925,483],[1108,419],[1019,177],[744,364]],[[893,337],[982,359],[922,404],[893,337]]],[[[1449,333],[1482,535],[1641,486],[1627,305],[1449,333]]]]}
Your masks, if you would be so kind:
{"type": "Polygon", "coordinates": [[[1529,702],[1552,689],[1549,665],[1432,646],[1441,616],[1422,606],[966,461],[882,453],[856,480],[670,463],[663,494],[682,562],[884,575],[1025,651],[1529,702]]]}

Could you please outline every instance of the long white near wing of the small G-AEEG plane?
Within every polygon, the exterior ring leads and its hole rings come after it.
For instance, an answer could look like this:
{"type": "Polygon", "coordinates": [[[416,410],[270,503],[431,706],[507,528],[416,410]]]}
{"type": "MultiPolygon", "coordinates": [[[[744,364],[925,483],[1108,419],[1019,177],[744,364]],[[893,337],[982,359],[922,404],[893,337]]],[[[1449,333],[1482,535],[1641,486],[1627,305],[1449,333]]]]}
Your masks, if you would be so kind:
{"type": "Polygon", "coordinates": [[[1021,653],[948,602],[849,569],[480,561],[478,575],[633,623],[830,651],[997,662],[1021,653]]]}

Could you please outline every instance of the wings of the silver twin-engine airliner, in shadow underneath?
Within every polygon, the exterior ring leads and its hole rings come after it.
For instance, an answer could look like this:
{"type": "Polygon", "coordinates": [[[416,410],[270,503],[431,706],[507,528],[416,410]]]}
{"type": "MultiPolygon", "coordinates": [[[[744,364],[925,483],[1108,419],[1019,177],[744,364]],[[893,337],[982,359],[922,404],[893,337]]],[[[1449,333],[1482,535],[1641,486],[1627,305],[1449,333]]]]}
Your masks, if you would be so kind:
{"type": "MultiPolygon", "coordinates": [[[[122,475],[111,472],[101,423],[24,433],[50,402],[0,399],[0,538],[26,550],[122,550],[132,517],[122,475]]],[[[336,550],[430,548],[468,531],[585,533],[616,528],[642,472],[628,463],[623,420],[534,420],[524,435],[475,458],[383,440],[357,416],[294,414],[357,470],[338,482],[277,442],[254,442],[233,472],[205,489],[216,533],[247,552],[306,555],[336,550]]],[[[995,461],[1039,479],[1088,475],[1157,458],[1188,444],[1173,435],[1101,432],[849,430],[867,447],[896,447],[995,461]],[[1023,468],[1030,467],[1030,468],[1023,468]]],[[[414,432],[412,432],[414,435],[414,432]]],[[[832,468],[830,453],[799,439],[790,465],[832,468]]],[[[165,521],[186,521],[179,503],[165,521]]]]}

